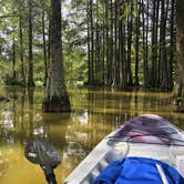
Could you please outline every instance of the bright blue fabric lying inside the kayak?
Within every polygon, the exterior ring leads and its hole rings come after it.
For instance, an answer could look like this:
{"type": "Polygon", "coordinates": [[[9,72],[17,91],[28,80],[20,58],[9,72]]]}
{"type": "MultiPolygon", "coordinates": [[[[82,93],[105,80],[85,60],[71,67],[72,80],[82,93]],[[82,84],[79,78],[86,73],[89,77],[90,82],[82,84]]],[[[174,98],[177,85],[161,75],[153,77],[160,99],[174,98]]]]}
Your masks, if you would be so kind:
{"type": "Polygon", "coordinates": [[[146,157],[125,157],[108,165],[93,184],[163,184],[159,164],[168,184],[184,184],[180,173],[166,163],[146,157]]]}

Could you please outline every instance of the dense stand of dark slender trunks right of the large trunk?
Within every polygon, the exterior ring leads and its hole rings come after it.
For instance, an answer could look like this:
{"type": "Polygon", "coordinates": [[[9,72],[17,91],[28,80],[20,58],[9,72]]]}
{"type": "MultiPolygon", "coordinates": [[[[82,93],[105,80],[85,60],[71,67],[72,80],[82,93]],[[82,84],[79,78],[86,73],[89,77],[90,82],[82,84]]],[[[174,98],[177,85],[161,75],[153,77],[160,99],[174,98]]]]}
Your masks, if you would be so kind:
{"type": "Polygon", "coordinates": [[[89,84],[173,89],[175,0],[89,0],[89,84]]]}

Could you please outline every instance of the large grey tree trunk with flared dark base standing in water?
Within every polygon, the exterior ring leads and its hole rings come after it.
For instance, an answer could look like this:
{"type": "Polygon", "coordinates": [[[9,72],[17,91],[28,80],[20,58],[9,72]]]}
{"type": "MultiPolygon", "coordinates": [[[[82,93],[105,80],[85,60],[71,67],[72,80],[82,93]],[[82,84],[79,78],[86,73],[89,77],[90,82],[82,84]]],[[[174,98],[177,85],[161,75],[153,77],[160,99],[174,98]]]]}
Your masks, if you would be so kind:
{"type": "Polygon", "coordinates": [[[61,42],[61,1],[51,0],[51,64],[43,100],[43,112],[70,112],[63,73],[61,42]]]}

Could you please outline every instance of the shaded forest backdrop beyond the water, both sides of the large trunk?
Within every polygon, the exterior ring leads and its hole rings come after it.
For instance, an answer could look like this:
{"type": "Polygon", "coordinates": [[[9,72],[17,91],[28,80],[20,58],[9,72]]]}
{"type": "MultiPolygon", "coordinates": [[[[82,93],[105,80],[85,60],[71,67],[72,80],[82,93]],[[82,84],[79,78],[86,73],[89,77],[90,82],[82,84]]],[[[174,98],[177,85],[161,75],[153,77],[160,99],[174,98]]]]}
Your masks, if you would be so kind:
{"type": "MultiPolygon", "coordinates": [[[[63,0],[67,84],[172,91],[176,78],[175,3],[63,0]]],[[[49,65],[49,0],[1,0],[1,84],[45,84],[49,65]]]]}

